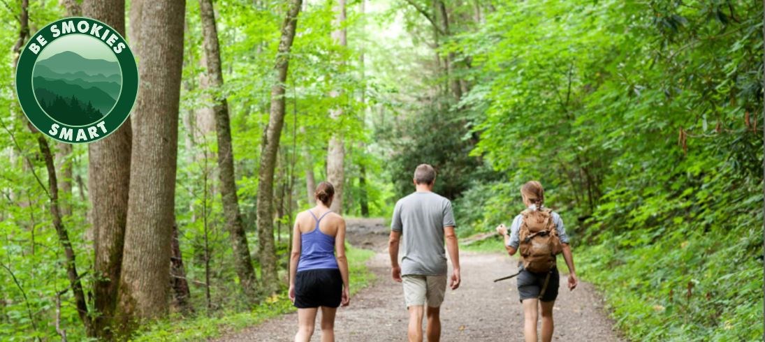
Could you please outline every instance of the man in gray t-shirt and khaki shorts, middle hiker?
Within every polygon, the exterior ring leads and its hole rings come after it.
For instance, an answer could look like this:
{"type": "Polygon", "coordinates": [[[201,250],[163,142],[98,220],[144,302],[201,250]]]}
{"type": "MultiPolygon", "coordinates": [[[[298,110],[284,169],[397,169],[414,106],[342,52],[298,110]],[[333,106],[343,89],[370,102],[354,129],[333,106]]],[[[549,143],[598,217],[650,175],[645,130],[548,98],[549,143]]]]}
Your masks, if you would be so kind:
{"type": "Polygon", "coordinates": [[[415,170],[416,190],[396,203],[388,250],[392,277],[402,282],[409,310],[409,340],[422,341],[422,316],[428,306],[428,340],[441,337],[440,310],[447,283],[444,239],[453,265],[451,289],[460,286],[460,259],[454,234],[451,202],[435,194],[435,170],[421,164],[415,170]],[[403,238],[401,265],[399,242],[403,238]]]}

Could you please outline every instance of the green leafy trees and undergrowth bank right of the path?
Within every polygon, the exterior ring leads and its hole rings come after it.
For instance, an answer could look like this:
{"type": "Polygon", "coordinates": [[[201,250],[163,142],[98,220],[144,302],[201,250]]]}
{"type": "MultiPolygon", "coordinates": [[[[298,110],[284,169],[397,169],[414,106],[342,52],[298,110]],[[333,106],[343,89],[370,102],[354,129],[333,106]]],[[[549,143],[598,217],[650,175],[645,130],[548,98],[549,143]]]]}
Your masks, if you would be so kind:
{"type": "Polygon", "coordinates": [[[762,16],[759,2],[498,7],[464,34],[483,83],[467,99],[485,108],[473,153],[508,176],[461,199],[474,230],[512,220],[539,179],[627,337],[762,337],[762,16]]]}

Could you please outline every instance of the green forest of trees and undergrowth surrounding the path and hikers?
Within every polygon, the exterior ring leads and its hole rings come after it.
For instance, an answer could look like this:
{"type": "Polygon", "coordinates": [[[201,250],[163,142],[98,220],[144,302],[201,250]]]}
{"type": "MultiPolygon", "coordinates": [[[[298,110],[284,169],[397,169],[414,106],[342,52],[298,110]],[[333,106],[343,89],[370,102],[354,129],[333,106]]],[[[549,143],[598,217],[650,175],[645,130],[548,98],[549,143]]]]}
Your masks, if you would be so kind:
{"type": "MultiPolygon", "coordinates": [[[[461,239],[541,181],[624,339],[762,340],[763,18],[750,0],[2,1],[0,340],[207,340],[290,312],[316,184],[389,222],[421,163],[461,239]],[[16,99],[19,52],[68,16],[138,60],[129,121],[90,144],[35,132],[16,99]]],[[[370,254],[351,246],[353,291],[370,254]]]]}

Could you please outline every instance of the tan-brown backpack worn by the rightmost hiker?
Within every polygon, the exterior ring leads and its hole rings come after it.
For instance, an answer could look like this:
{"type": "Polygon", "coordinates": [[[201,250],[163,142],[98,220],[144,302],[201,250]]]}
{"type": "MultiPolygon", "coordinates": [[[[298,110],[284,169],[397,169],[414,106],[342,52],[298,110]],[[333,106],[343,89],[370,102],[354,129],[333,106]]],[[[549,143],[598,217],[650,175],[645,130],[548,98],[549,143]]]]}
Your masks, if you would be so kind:
{"type": "Polygon", "coordinates": [[[563,252],[552,210],[523,210],[518,232],[523,268],[530,272],[549,272],[555,267],[555,256],[563,252]]]}

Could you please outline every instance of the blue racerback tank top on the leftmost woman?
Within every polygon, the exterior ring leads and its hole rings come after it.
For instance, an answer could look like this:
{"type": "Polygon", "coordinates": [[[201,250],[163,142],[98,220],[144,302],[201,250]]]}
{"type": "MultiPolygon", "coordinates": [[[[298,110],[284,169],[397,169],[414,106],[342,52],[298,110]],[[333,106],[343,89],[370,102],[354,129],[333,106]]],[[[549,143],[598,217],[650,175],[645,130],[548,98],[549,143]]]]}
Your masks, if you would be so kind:
{"type": "Polygon", "coordinates": [[[316,220],[314,230],[308,233],[301,233],[300,260],[298,261],[298,272],[309,269],[337,269],[337,259],[334,256],[334,236],[329,236],[319,230],[321,219],[327,216],[327,213],[317,218],[311,210],[308,210],[311,216],[316,220]]]}

